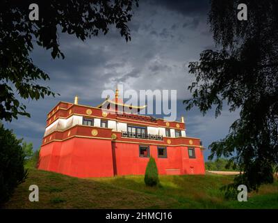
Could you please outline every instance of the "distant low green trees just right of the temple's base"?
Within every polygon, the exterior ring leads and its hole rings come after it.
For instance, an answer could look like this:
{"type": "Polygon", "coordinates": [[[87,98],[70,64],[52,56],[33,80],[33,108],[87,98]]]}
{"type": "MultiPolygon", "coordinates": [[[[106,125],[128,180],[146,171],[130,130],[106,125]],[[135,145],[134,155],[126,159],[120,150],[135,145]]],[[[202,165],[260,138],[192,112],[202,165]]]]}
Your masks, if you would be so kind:
{"type": "Polygon", "coordinates": [[[214,161],[205,162],[206,170],[212,171],[238,171],[238,167],[234,162],[229,162],[229,160],[225,160],[223,158],[219,158],[214,161]]]}

